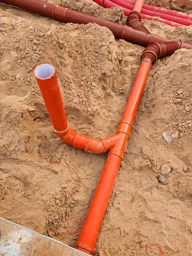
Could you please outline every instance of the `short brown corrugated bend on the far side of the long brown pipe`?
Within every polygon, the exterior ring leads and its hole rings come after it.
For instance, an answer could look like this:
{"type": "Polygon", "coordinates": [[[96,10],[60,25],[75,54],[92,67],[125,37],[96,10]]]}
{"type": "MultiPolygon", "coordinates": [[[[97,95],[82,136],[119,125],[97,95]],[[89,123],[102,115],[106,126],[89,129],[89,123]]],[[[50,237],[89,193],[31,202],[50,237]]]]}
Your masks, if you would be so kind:
{"type": "Polygon", "coordinates": [[[150,32],[143,26],[143,23],[141,22],[141,15],[137,11],[130,12],[130,14],[127,17],[127,26],[130,26],[133,29],[139,30],[146,35],[151,35],[150,32]]]}

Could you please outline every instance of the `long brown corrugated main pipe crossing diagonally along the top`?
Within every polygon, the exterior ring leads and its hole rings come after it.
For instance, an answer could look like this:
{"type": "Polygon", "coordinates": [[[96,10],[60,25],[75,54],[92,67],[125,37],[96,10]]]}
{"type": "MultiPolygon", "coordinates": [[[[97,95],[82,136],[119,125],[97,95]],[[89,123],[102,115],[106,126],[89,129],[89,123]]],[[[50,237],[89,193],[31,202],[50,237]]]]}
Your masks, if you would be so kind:
{"type": "MultiPolygon", "coordinates": [[[[108,20],[103,20],[84,13],[76,12],[53,3],[47,3],[41,0],[0,0],[0,3],[10,4],[30,12],[35,12],[55,20],[62,22],[87,24],[96,23],[100,26],[105,26],[111,30],[116,38],[124,39],[125,41],[141,46],[148,46],[153,43],[165,43],[172,40],[162,38],[158,35],[145,34],[144,32],[135,30],[129,26],[123,26],[108,20]]],[[[192,44],[182,43],[181,48],[192,49],[192,44]]]]}

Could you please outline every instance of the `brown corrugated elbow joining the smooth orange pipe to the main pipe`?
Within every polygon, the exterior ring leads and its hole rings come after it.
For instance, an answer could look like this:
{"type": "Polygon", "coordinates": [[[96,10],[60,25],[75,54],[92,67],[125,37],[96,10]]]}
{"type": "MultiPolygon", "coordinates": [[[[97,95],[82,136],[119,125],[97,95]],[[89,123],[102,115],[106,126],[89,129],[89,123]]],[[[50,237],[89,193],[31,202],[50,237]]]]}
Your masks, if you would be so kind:
{"type": "Polygon", "coordinates": [[[181,45],[175,41],[150,44],[143,51],[141,63],[148,62],[154,64],[157,61],[157,58],[172,55],[177,49],[180,49],[180,46],[181,45]]]}

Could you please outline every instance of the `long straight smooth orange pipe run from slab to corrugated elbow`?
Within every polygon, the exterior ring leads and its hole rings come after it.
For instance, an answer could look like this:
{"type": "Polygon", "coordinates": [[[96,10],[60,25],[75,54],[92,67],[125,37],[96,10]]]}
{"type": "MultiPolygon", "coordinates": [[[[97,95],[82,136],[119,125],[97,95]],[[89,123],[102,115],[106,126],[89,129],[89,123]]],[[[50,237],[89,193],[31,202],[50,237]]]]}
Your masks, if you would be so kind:
{"type": "MultiPolygon", "coordinates": [[[[148,62],[143,62],[140,64],[137,77],[135,79],[120,123],[129,123],[132,126],[150,67],[151,64],[148,62]]],[[[117,130],[117,132],[119,131],[117,130]]],[[[124,134],[122,141],[119,142],[121,150],[124,152],[125,145],[130,134],[127,134],[126,131],[124,132],[122,130],[120,132],[124,134]]],[[[112,150],[113,148],[111,149],[111,151],[112,150]]],[[[76,249],[90,255],[93,255],[96,239],[99,234],[99,230],[102,225],[102,220],[104,218],[106,208],[108,206],[108,201],[113,189],[116,175],[122,161],[120,157],[112,154],[111,151],[109,151],[108,159],[105,163],[105,167],[103,169],[95,195],[93,197],[93,201],[90,205],[90,209],[84,221],[84,225],[81,230],[79,239],[76,242],[76,249]]]]}

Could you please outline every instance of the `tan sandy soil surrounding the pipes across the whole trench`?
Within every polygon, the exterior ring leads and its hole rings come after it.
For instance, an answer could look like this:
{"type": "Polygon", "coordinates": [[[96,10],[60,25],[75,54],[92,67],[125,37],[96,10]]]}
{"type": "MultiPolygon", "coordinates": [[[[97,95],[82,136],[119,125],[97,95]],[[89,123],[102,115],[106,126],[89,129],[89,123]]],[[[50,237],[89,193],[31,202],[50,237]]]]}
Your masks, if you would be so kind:
{"type": "MultiPolygon", "coordinates": [[[[120,8],[89,0],[62,5],[124,23],[120,8]]],[[[192,27],[144,24],[152,33],[192,43],[192,27]]],[[[59,23],[3,4],[0,29],[0,216],[74,246],[78,236],[66,227],[73,232],[79,223],[68,220],[84,222],[106,155],[58,139],[33,70],[54,65],[70,125],[105,137],[116,131],[144,48],[96,24],[59,23]]],[[[146,255],[146,245],[156,241],[167,256],[191,256],[191,74],[192,50],[178,50],[151,68],[96,255],[146,255]],[[166,143],[163,132],[175,139],[166,143]],[[162,165],[171,169],[163,175],[167,185],[157,179],[162,165]]]]}

